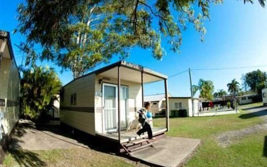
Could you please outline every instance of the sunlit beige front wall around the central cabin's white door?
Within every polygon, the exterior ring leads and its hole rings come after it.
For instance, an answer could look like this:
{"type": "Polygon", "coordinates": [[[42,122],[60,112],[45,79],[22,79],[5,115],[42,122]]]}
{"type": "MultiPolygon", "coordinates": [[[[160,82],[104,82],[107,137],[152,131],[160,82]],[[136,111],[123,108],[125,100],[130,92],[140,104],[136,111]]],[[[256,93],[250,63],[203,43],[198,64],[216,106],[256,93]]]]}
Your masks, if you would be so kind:
{"type": "MultiPolygon", "coordinates": [[[[102,92],[102,83],[117,84],[118,80],[115,78],[110,78],[110,80],[104,80],[104,76],[97,75],[95,79],[95,92],[102,92]],[[99,79],[102,79],[102,83],[99,84],[99,79]]],[[[128,86],[129,88],[129,116],[134,117],[135,110],[142,108],[142,85],[140,83],[130,82],[126,80],[121,80],[121,85],[128,86]]],[[[103,132],[102,127],[102,97],[95,96],[95,131],[103,132]]]]}

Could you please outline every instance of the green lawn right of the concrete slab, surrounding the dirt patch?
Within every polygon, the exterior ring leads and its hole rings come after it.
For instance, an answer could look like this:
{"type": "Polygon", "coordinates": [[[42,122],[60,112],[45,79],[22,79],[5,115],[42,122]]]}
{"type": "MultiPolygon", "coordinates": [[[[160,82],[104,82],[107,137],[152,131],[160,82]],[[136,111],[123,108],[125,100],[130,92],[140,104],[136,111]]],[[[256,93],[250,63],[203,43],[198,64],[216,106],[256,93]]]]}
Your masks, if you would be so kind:
{"type": "MultiPolygon", "coordinates": [[[[248,106],[256,107],[261,105],[262,103],[256,103],[248,106]]],[[[167,136],[202,140],[202,144],[198,147],[196,154],[185,164],[186,167],[266,167],[267,129],[262,132],[248,134],[227,148],[218,146],[216,135],[263,123],[263,120],[259,117],[239,118],[244,113],[246,112],[240,110],[238,114],[222,116],[172,118],[170,119],[170,131],[167,132],[167,136]]],[[[153,120],[154,126],[164,126],[165,122],[165,119],[153,120]]]]}

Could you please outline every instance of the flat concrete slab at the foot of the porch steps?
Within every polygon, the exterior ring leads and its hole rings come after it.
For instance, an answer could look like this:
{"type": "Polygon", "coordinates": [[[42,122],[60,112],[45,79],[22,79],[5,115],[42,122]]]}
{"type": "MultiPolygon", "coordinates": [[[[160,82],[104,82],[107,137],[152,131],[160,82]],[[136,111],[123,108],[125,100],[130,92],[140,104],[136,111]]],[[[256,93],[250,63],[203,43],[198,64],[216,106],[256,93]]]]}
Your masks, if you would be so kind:
{"type": "Polygon", "coordinates": [[[164,137],[153,142],[153,147],[134,152],[132,157],[151,165],[176,167],[190,156],[199,144],[199,139],[164,137]]]}

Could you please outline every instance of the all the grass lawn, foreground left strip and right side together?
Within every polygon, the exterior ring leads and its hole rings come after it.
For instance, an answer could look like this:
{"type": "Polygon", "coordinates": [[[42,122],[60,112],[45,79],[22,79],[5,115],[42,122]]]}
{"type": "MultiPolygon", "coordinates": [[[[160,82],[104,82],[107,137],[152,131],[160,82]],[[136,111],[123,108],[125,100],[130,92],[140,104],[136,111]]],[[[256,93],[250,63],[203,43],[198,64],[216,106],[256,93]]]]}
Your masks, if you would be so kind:
{"type": "MultiPolygon", "coordinates": [[[[249,107],[262,103],[249,104],[249,107]]],[[[267,166],[267,129],[253,132],[233,142],[226,148],[218,145],[215,136],[227,131],[247,128],[263,123],[259,117],[239,118],[238,114],[171,118],[167,136],[201,139],[195,155],[185,164],[186,167],[256,167],[267,166]],[[264,151],[265,143],[265,151],[264,151]]],[[[164,127],[164,118],[154,119],[154,127],[164,127]]],[[[49,151],[11,151],[5,158],[5,166],[144,166],[122,157],[98,152],[92,149],[56,149],[49,151]],[[33,162],[29,159],[34,160],[33,162]],[[28,165],[27,165],[28,164],[28,165]]]]}

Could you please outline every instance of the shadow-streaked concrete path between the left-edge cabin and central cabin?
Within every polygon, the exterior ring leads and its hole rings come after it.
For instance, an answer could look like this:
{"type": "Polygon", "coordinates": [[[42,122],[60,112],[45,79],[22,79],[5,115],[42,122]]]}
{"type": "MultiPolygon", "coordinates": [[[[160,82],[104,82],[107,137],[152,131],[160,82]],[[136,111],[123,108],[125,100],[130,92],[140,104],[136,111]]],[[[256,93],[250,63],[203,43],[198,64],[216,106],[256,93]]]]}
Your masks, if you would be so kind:
{"type": "Polygon", "coordinates": [[[49,126],[49,128],[36,126],[32,121],[19,120],[10,148],[27,150],[88,148],[87,145],[61,132],[59,126],[49,126]]]}

